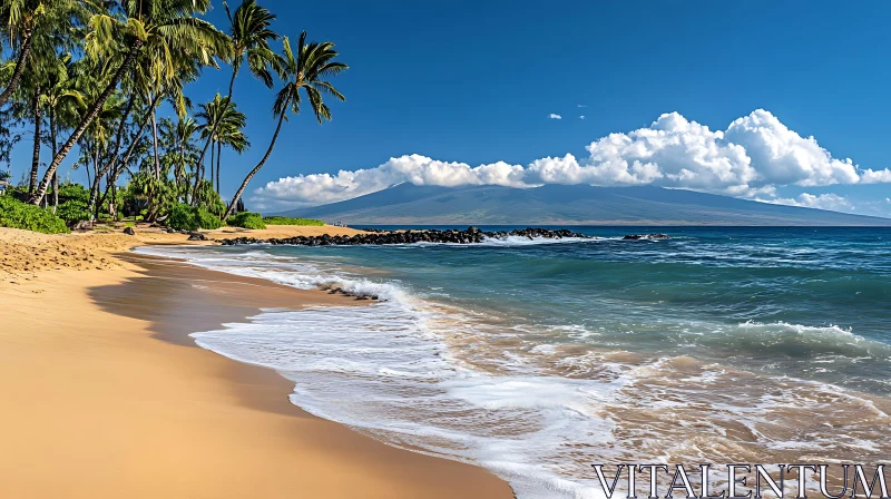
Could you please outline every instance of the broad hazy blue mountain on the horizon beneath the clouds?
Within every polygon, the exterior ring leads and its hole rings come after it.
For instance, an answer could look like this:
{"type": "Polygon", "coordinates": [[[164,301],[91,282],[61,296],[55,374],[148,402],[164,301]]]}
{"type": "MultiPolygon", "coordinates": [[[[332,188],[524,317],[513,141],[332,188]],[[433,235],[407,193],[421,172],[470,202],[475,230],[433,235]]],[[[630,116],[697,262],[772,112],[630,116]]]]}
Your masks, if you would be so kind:
{"type": "Polygon", "coordinates": [[[287,216],[369,225],[879,225],[891,218],[772,205],[662,187],[400,184],[287,216]]]}

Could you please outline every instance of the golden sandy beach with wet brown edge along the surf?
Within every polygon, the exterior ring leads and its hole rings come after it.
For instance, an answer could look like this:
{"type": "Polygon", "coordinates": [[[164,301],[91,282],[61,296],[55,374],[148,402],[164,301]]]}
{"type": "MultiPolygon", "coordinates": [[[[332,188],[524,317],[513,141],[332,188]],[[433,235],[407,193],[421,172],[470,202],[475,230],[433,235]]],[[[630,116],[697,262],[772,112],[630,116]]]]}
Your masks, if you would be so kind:
{"type": "Polygon", "coordinates": [[[260,307],[356,302],[127,253],[186,237],[0,228],[0,497],[512,497],[480,468],[310,415],[275,372],[195,346],[188,333],[260,307]]]}

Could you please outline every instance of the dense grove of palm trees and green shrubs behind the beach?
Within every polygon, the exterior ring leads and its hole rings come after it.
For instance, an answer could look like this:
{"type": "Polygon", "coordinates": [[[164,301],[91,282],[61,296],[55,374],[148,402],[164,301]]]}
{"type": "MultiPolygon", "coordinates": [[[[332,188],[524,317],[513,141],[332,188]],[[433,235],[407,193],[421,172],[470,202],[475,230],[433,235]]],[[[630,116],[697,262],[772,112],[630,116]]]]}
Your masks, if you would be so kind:
{"type": "Polygon", "coordinates": [[[225,27],[206,19],[212,0],[0,0],[0,172],[21,176],[2,196],[0,225],[38,213],[45,232],[124,217],[184,229],[274,223],[239,214],[242,196],[302,104],[319,124],[331,119],[326,98],[344,100],[332,79],[347,67],[306,32],[292,47],[256,0],[222,6],[225,27]],[[226,67],[226,95],[189,92],[226,67]],[[223,160],[252,146],[248,119],[270,119],[237,105],[245,74],[275,91],[274,133],[254,137],[267,145],[249,168],[223,160]],[[13,165],[19,143],[30,162],[13,165]],[[225,198],[224,173],[244,175],[225,198]]]}

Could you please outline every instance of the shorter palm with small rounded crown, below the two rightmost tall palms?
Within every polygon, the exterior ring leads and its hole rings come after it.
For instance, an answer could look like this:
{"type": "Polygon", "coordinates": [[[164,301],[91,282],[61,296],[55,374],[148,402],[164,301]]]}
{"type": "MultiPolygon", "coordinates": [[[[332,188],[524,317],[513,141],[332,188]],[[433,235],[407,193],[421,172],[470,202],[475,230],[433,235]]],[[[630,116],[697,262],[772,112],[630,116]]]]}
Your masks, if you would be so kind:
{"type": "MultiPolygon", "coordinates": [[[[219,156],[223,146],[232,147],[236,153],[241,154],[249,143],[247,137],[242,130],[247,125],[247,118],[244,112],[236,109],[236,105],[229,104],[227,98],[221,97],[219,94],[214,97],[214,100],[202,104],[200,111],[195,115],[196,118],[204,120],[198,127],[202,133],[202,138],[210,141],[210,183],[214,183],[214,145],[216,145],[216,190],[219,193],[219,156]]],[[[200,166],[200,175],[198,178],[204,177],[204,167],[200,166]]]]}

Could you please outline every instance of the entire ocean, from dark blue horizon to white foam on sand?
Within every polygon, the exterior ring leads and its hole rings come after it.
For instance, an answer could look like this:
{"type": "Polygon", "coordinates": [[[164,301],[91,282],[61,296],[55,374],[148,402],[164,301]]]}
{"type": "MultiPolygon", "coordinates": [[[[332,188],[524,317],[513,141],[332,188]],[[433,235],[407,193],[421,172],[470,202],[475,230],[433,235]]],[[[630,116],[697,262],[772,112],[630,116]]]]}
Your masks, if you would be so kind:
{"type": "Polygon", "coordinates": [[[597,238],[140,251],[379,296],[193,336],[520,498],[601,497],[593,463],[891,458],[891,229],[578,232],[597,238]],[[620,238],[649,232],[672,238],[620,238]]]}

